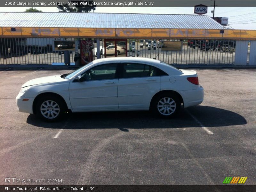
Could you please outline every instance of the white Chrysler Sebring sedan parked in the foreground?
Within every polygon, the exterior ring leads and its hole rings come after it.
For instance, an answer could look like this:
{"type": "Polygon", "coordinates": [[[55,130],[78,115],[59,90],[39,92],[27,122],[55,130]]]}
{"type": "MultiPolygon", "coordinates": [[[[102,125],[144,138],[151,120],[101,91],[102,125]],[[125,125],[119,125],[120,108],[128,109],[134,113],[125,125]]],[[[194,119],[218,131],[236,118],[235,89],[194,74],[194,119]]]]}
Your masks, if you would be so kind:
{"type": "Polygon", "coordinates": [[[46,121],[64,112],[151,109],[169,118],[183,107],[202,103],[204,89],[193,70],[135,57],[94,60],[73,73],[36,78],[22,85],[16,97],[20,112],[46,121]]]}

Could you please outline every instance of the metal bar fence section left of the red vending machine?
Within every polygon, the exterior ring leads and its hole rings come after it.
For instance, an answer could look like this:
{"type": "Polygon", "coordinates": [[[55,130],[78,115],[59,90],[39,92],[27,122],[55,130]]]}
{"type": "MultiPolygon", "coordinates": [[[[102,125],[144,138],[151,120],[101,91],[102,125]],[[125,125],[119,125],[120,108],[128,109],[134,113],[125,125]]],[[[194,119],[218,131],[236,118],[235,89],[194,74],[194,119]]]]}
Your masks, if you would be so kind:
{"type": "MultiPolygon", "coordinates": [[[[0,64],[52,64],[63,63],[63,50],[55,50],[55,38],[2,38],[0,64]]],[[[71,39],[74,40],[74,39],[71,39]]],[[[74,60],[75,51],[70,51],[74,60]]]]}

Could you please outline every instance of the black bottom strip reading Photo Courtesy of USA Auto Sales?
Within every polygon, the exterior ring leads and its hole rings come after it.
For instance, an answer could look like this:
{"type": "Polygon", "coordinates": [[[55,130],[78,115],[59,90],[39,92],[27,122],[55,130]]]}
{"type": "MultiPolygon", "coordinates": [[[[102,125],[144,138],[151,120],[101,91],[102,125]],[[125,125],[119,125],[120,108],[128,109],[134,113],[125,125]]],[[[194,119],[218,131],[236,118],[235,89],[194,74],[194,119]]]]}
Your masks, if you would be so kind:
{"type": "Polygon", "coordinates": [[[2,192],[86,192],[86,191],[252,191],[255,185],[0,185],[2,192]],[[10,189],[12,188],[12,189],[10,189]],[[32,190],[31,190],[32,188],[32,190]],[[48,190],[47,190],[48,189],[48,190]]]}

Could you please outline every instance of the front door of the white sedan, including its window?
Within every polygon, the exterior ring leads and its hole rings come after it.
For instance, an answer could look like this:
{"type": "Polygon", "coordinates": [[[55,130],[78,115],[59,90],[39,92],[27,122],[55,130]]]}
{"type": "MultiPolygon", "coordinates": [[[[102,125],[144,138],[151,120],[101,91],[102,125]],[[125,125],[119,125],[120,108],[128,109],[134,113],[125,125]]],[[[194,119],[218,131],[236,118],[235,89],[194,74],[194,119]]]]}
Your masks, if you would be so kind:
{"type": "MultiPolygon", "coordinates": [[[[119,62],[120,63],[120,62],[119,62]]],[[[117,66],[105,63],[88,69],[81,74],[82,82],[69,84],[69,97],[74,111],[117,109],[117,66]]]]}

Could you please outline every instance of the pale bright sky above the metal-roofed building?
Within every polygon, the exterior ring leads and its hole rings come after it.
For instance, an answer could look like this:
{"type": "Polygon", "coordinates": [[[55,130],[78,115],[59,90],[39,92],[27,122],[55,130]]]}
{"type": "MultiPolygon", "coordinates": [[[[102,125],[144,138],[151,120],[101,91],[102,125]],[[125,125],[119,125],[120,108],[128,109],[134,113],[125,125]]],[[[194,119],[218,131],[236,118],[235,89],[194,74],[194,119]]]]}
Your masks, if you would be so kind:
{"type": "MultiPolygon", "coordinates": [[[[1,12],[24,12],[29,7],[4,7],[1,12]]],[[[36,7],[43,12],[58,12],[56,7],[36,7]]],[[[213,7],[206,15],[212,17],[213,7]]],[[[194,14],[194,7],[96,7],[94,12],[104,13],[151,13],[151,14],[194,14]]],[[[228,17],[228,28],[256,30],[255,7],[215,7],[215,17],[228,17]]]]}

